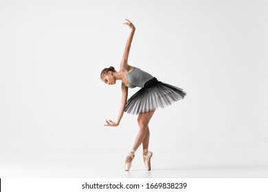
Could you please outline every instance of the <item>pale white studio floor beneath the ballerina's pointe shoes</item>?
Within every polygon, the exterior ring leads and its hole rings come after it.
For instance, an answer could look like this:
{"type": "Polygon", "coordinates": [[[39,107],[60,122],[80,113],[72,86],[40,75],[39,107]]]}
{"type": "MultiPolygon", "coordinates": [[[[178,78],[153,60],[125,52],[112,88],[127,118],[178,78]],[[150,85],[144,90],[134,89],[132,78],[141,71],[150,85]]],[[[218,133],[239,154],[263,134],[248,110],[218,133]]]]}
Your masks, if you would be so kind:
{"type": "Polygon", "coordinates": [[[268,178],[265,154],[153,154],[146,171],[136,154],[124,171],[125,154],[1,155],[0,178],[268,178]]]}

